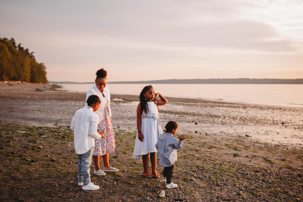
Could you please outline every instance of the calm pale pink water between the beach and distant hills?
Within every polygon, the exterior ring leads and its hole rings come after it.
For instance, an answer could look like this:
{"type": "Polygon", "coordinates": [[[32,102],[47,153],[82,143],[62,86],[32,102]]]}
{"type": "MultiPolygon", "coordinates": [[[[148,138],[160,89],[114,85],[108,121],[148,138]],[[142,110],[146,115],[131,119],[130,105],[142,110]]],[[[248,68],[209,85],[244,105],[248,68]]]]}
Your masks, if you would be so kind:
{"type": "MultiPolygon", "coordinates": [[[[93,84],[59,84],[62,90],[86,92],[93,84]]],[[[111,94],[139,95],[145,84],[108,84],[111,94]]],[[[301,84],[153,84],[167,97],[202,98],[303,108],[301,84]]]]}

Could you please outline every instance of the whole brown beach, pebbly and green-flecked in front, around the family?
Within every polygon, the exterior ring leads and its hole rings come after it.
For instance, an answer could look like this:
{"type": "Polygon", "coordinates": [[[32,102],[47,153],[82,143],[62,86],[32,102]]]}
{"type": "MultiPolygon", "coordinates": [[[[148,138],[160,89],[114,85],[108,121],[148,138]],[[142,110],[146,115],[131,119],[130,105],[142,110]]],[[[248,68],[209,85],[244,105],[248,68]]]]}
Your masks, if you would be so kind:
{"type": "Polygon", "coordinates": [[[138,96],[112,94],[110,163],[120,172],[99,177],[92,163],[92,182],[101,188],[83,191],[69,126],[85,93],[36,91],[43,86],[0,83],[2,201],[303,200],[302,108],[167,98],[159,106],[162,127],[176,121],[178,134],[188,137],[178,151],[178,188],[167,190],[158,178],[143,177],[142,161],[131,158],[138,96]],[[164,198],[157,196],[161,190],[164,198]]]}

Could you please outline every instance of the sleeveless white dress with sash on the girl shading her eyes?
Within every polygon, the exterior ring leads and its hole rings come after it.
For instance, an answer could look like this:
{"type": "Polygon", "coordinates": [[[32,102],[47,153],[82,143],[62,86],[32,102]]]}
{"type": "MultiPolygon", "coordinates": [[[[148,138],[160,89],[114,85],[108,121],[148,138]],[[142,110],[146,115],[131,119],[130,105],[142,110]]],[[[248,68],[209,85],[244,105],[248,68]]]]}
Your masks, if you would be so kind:
{"type": "Polygon", "coordinates": [[[141,131],[143,142],[138,139],[138,131],[135,141],[133,158],[141,159],[142,155],[150,152],[157,152],[155,144],[158,141],[158,135],[162,134],[162,127],[158,116],[157,104],[153,101],[147,102],[147,114],[143,110],[141,119],[141,131]]]}

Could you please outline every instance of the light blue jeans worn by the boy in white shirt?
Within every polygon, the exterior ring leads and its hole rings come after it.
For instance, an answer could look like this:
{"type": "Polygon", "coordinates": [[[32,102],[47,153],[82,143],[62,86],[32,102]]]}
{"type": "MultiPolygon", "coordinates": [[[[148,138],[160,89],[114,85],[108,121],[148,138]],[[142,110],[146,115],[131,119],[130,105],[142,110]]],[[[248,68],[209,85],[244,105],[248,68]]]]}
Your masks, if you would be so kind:
{"type": "Polygon", "coordinates": [[[93,148],[90,148],[84,154],[77,154],[78,157],[78,182],[83,181],[83,186],[91,182],[91,174],[89,174],[90,165],[92,164],[93,148]]]}

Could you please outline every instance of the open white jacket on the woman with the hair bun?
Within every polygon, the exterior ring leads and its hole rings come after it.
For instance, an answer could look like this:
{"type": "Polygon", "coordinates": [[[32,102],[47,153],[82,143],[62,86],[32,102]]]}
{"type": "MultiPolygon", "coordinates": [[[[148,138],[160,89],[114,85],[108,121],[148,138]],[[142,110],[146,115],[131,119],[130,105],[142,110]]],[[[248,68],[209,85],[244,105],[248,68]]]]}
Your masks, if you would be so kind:
{"type": "Polygon", "coordinates": [[[108,86],[105,86],[105,88],[103,89],[103,94],[105,95],[106,99],[108,100],[108,103],[106,104],[106,106],[104,106],[104,98],[102,93],[99,91],[99,89],[97,88],[96,84],[94,84],[87,92],[86,92],[86,99],[85,99],[85,104],[87,105],[86,101],[87,98],[91,95],[98,95],[100,100],[101,100],[101,105],[99,107],[99,109],[97,111],[95,111],[95,113],[98,115],[99,117],[99,121],[102,120],[103,118],[103,113],[104,113],[104,107],[108,107],[108,111],[109,111],[109,116],[112,117],[112,112],[111,112],[111,108],[110,108],[110,100],[111,100],[111,95],[109,94],[109,88],[108,86]]]}

